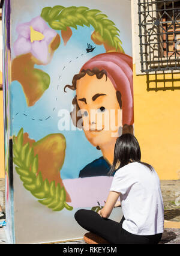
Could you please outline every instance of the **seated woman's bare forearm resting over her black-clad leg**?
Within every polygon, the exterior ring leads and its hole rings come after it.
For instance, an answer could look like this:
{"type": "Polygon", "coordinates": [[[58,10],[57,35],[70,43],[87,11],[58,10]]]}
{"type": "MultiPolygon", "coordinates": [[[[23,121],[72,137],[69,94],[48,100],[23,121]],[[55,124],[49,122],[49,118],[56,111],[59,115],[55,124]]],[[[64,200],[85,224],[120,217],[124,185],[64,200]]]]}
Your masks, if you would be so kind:
{"type": "Polygon", "coordinates": [[[119,198],[120,193],[115,191],[110,191],[109,195],[107,197],[107,201],[103,209],[101,209],[98,214],[103,218],[108,218],[110,216],[110,213],[113,210],[113,207],[116,204],[116,201],[119,198]]]}

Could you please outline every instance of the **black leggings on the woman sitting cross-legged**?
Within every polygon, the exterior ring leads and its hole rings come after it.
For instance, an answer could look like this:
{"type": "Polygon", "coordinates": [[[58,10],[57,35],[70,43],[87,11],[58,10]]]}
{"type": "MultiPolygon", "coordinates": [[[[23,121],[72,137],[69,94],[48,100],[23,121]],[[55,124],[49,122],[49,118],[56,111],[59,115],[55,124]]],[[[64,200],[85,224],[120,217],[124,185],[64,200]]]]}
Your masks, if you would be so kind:
{"type": "Polygon", "coordinates": [[[161,240],[162,234],[151,236],[140,236],[131,234],[122,228],[124,216],[120,222],[104,219],[92,210],[78,210],[74,218],[77,223],[94,234],[102,237],[112,244],[157,244],[161,240]]]}

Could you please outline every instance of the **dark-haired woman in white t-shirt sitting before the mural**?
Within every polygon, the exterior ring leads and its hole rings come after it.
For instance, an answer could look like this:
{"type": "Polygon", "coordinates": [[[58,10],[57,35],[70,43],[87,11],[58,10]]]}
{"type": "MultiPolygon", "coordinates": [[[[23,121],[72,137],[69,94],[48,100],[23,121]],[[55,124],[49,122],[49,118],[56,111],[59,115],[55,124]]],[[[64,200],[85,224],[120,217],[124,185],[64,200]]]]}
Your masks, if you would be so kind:
{"type": "Polygon", "coordinates": [[[98,213],[82,209],[75,214],[83,228],[115,244],[160,242],[164,230],[160,180],[154,168],[140,159],[136,137],[130,133],[122,134],[116,140],[113,164],[108,173],[115,172],[115,175],[106,204],[98,213]],[[107,218],[119,195],[124,216],[118,223],[107,218]]]}

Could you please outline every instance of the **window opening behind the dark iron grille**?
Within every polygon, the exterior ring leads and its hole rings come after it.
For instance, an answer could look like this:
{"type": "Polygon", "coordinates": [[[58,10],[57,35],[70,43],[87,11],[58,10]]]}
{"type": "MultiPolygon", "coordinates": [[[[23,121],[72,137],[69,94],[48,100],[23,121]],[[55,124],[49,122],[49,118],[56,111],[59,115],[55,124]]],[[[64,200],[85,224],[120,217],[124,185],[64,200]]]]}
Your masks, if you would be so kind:
{"type": "Polygon", "coordinates": [[[180,70],[180,0],[138,0],[142,72],[180,70]]]}

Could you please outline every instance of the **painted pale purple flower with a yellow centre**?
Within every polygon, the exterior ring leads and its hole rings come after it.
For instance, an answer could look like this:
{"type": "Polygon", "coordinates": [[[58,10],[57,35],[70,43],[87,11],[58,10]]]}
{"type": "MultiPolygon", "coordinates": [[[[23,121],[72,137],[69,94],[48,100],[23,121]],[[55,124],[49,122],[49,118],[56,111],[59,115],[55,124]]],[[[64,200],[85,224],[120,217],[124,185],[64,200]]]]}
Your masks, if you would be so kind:
{"type": "Polygon", "coordinates": [[[42,64],[47,64],[52,56],[49,44],[52,43],[57,33],[49,28],[40,16],[31,22],[22,23],[16,28],[19,37],[14,43],[16,56],[31,52],[42,64]]]}

